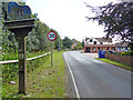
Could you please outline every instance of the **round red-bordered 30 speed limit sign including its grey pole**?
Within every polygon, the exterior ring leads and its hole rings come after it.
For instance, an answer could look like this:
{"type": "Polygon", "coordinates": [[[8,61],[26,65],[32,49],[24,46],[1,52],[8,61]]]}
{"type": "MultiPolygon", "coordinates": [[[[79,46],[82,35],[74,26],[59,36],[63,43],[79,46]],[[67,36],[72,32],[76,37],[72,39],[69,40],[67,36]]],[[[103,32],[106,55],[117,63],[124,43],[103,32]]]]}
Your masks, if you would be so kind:
{"type": "Polygon", "coordinates": [[[57,39],[57,33],[54,31],[50,31],[48,33],[48,39],[51,41],[51,67],[53,66],[53,41],[57,39]]]}

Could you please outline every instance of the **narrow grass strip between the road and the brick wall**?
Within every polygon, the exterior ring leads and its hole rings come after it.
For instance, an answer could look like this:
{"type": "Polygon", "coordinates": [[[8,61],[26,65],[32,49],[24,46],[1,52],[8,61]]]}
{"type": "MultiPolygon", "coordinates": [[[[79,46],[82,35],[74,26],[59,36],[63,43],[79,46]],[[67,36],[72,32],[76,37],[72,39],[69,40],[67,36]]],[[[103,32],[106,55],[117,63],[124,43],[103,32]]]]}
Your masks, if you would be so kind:
{"type": "Polygon", "coordinates": [[[98,60],[101,60],[101,61],[106,62],[106,63],[111,63],[111,64],[113,64],[113,66],[123,68],[123,69],[125,69],[125,70],[133,71],[133,67],[130,67],[130,66],[127,66],[127,64],[119,63],[119,62],[112,61],[112,60],[110,60],[110,59],[98,59],[98,60]]]}

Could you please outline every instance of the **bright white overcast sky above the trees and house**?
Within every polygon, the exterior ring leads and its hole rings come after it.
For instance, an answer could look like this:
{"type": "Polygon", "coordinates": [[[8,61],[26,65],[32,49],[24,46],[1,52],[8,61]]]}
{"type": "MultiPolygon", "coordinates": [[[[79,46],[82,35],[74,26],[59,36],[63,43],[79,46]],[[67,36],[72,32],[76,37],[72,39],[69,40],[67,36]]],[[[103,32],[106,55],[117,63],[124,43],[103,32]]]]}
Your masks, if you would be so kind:
{"type": "Polygon", "coordinates": [[[93,13],[85,7],[84,2],[98,7],[115,0],[24,0],[31,8],[32,13],[50,28],[58,31],[63,39],[82,41],[86,38],[102,38],[105,36],[104,27],[98,22],[88,21],[85,17],[93,13]]]}

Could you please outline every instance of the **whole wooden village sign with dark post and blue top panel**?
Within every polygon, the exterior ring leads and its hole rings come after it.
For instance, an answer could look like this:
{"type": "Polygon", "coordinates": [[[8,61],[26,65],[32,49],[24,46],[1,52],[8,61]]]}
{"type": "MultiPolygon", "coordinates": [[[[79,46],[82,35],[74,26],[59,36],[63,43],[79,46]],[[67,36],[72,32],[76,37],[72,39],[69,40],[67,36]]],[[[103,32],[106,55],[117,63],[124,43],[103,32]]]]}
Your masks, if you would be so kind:
{"type": "Polygon", "coordinates": [[[13,32],[19,43],[19,93],[25,94],[27,89],[27,42],[25,37],[34,27],[34,19],[29,18],[31,14],[28,6],[19,6],[16,2],[8,4],[9,21],[4,26],[13,32]],[[21,16],[21,17],[18,17],[21,16]],[[18,19],[14,19],[14,17],[18,19]],[[29,18],[29,19],[22,19],[29,18]]]}

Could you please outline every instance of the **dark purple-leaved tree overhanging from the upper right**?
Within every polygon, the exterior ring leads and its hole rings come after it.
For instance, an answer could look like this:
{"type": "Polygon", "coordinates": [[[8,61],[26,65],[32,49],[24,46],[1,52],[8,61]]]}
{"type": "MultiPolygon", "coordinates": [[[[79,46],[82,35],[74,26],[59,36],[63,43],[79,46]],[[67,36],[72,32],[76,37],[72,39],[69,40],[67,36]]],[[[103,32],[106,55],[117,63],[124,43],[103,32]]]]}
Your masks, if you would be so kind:
{"type": "Polygon", "coordinates": [[[106,38],[119,36],[121,41],[129,42],[133,50],[133,2],[109,3],[108,6],[86,6],[95,12],[95,17],[86,17],[89,20],[96,20],[104,26],[106,38]]]}

